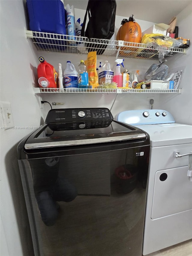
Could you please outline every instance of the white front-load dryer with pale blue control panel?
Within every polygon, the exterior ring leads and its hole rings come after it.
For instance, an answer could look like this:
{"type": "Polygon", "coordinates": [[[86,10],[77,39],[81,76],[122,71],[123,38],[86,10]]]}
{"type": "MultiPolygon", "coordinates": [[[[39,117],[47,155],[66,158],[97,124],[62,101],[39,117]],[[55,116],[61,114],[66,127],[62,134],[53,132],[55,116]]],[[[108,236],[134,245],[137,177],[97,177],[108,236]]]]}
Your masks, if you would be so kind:
{"type": "Polygon", "coordinates": [[[143,255],[192,238],[192,125],[165,110],[127,110],[115,119],[151,140],[143,255]]]}

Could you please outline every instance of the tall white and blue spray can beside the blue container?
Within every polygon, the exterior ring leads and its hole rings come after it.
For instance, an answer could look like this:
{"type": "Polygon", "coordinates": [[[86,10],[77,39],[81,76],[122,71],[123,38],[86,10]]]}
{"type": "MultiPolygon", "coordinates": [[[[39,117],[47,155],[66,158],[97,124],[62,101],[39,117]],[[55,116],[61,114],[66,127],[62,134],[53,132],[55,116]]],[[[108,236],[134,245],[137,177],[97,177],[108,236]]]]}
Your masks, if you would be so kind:
{"type": "MultiPolygon", "coordinates": [[[[69,4],[67,4],[66,6],[67,9],[67,34],[70,35],[70,40],[75,40],[74,36],[75,36],[75,11],[74,11],[74,7],[73,5],[70,6],[69,4]]],[[[70,45],[75,45],[75,41],[74,42],[69,42],[70,45]]]]}

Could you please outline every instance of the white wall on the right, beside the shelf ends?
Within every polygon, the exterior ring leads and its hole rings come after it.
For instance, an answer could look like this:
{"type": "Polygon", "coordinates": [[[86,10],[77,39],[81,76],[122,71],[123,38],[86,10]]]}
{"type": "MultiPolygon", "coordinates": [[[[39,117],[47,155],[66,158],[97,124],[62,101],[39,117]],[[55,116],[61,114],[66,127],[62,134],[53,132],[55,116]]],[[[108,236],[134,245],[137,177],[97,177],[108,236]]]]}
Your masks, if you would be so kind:
{"type": "MultiPolygon", "coordinates": [[[[192,2],[177,16],[177,26],[179,26],[179,36],[190,38],[192,40],[192,2]]],[[[179,88],[182,88],[181,94],[164,94],[160,98],[160,106],[172,113],[176,122],[192,125],[192,47],[187,49],[187,54],[177,53],[167,59],[169,68],[184,67],[179,88]]]]}

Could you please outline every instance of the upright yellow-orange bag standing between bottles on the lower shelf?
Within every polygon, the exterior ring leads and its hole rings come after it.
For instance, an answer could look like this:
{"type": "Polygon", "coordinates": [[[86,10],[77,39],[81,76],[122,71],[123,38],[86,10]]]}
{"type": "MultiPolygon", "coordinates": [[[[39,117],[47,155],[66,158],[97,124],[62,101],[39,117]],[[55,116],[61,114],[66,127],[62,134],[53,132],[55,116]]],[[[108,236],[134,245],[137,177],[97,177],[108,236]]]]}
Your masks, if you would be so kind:
{"type": "Polygon", "coordinates": [[[97,88],[99,86],[98,83],[98,75],[96,71],[97,65],[97,52],[89,52],[87,55],[87,60],[85,60],[85,65],[87,66],[88,72],[88,80],[89,80],[89,88],[97,88]]]}

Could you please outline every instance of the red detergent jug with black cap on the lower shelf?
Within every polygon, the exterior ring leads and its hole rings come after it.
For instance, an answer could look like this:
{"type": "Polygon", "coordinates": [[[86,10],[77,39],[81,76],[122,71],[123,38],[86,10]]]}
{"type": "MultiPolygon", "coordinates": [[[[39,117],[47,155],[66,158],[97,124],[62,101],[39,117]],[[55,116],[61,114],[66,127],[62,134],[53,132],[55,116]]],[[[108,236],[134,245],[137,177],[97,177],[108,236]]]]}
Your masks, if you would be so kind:
{"type": "Polygon", "coordinates": [[[43,57],[39,57],[40,64],[37,68],[38,79],[44,77],[48,80],[47,83],[39,83],[40,87],[57,88],[58,74],[55,68],[45,61],[43,57]]]}

